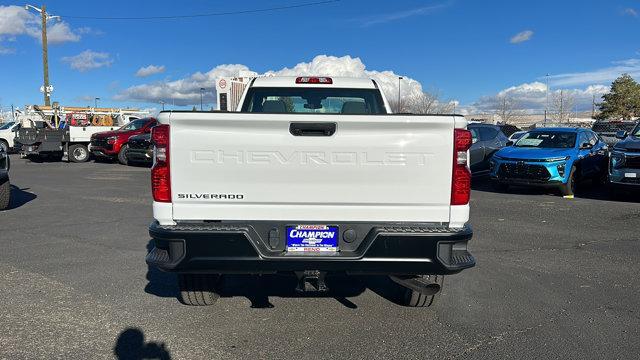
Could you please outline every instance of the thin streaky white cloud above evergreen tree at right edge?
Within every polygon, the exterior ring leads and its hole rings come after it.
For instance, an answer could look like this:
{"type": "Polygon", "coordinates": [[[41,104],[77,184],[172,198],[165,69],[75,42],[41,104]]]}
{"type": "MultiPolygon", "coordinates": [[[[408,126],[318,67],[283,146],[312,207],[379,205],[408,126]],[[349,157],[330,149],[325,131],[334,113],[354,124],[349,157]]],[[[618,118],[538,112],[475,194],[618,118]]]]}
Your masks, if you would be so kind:
{"type": "Polygon", "coordinates": [[[624,73],[636,79],[640,78],[640,59],[616,61],[612,66],[592,71],[552,75],[549,77],[549,83],[559,87],[603,84],[612,82],[624,73]]]}

